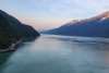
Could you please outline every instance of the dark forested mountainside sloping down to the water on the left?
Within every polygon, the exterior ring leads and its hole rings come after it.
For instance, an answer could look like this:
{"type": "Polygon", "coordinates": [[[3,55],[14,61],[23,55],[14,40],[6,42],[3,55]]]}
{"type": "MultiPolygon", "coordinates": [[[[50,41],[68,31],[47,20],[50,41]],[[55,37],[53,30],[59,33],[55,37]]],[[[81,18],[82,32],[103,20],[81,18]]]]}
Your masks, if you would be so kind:
{"type": "Polygon", "coordinates": [[[9,48],[17,40],[35,39],[39,34],[28,25],[0,10],[0,49],[9,48]]]}

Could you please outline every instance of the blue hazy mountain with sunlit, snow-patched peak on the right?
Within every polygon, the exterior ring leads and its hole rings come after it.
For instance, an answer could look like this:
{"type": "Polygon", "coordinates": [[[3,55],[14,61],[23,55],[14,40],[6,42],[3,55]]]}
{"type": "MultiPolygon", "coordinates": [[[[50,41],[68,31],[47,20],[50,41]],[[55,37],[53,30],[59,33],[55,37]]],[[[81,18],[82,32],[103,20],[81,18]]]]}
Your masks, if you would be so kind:
{"type": "Polygon", "coordinates": [[[59,28],[43,33],[69,36],[109,37],[109,12],[90,19],[70,22],[59,28]]]}

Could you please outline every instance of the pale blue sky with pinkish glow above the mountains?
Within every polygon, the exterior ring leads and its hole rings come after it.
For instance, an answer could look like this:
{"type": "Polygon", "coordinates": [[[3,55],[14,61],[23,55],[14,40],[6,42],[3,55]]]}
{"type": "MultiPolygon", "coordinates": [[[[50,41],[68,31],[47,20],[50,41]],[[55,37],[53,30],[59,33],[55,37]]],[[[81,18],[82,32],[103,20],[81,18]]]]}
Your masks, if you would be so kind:
{"type": "Polygon", "coordinates": [[[109,0],[0,0],[0,10],[41,31],[109,11],[109,0]]]}

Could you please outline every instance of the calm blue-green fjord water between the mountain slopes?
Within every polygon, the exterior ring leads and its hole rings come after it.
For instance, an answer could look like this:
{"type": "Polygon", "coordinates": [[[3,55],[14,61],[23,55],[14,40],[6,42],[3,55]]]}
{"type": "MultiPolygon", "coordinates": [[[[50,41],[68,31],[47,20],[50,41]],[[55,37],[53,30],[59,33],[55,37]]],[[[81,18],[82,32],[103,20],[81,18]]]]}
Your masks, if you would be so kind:
{"type": "Polygon", "coordinates": [[[109,39],[43,35],[13,52],[0,73],[109,73],[109,39]]]}

